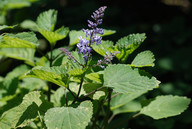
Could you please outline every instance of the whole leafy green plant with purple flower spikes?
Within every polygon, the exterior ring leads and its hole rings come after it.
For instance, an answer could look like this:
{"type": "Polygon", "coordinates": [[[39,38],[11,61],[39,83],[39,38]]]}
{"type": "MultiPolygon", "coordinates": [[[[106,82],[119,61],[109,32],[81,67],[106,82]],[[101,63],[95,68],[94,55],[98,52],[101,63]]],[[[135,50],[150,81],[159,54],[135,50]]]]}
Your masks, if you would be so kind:
{"type": "MultiPolygon", "coordinates": [[[[154,66],[154,55],[146,50],[131,62],[127,59],[146,36],[130,34],[115,43],[102,40],[115,33],[99,28],[106,8],[91,15],[89,29],[55,29],[57,11],[51,9],[38,16],[36,27],[28,27],[35,32],[0,35],[0,58],[25,63],[0,77],[0,129],[107,129],[119,114],[162,119],[187,109],[190,99],[184,96],[145,99],[160,83],[145,71],[154,66]],[[50,44],[47,53],[38,47],[37,32],[50,44]],[[69,46],[56,48],[57,41],[68,35],[69,46]]],[[[14,27],[2,25],[0,31],[14,27]]]]}

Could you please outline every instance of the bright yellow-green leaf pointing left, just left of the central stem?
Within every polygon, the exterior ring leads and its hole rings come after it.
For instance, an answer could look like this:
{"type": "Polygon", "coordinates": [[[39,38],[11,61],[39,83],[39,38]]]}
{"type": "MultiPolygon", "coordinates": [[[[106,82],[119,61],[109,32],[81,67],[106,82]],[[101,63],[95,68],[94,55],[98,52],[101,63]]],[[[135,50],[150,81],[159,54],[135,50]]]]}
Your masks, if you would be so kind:
{"type": "Polygon", "coordinates": [[[34,67],[32,70],[28,71],[23,77],[33,77],[46,80],[55,83],[59,86],[66,86],[65,82],[68,79],[66,77],[67,68],[66,67],[34,67]]]}

